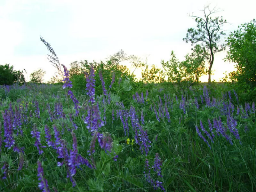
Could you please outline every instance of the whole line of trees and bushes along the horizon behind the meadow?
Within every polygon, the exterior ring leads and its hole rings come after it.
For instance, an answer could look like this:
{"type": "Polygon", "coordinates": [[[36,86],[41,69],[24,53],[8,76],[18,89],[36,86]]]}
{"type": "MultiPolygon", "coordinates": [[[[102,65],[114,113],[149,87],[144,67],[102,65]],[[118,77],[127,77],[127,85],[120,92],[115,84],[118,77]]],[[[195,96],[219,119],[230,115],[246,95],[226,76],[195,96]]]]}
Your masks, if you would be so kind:
{"type": "MultiPolygon", "coordinates": [[[[95,61],[88,62],[75,61],[70,65],[70,79],[73,81],[74,88],[77,90],[84,89],[86,73],[91,66],[95,69],[96,84],[100,85],[99,73],[104,74],[106,84],[110,84],[113,72],[116,78],[127,78],[130,82],[137,84],[145,83],[163,83],[170,82],[178,86],[178,89],[186,93],[192,85],[198,84],[202,75],[208,74],[208,83],[211,83],[212,66],[214,55],[228,47],[228,54],[225,61],[236,63],[236,71],[226,74],[224,82],[232,82],[230,86],[244,96],[255,99],[256,95],[256,25],[255,20],[238,26],[238,29],[231,32],[225,40],[221,42],[221,37],[226,34],[222,26],[227,23],[222,17],[212,18],[217,10],[210,10],[209,6],[204,7],[203,17],[190,15],[195,18],[196,28],[188,28],[187,35],[183,38],[186,43],[191,43],[192,53],[187,54],[183,61],[176,58],[174,51],[171,53],[171,59],[167,62],[161,61],[162,69],[155,65],[149,67],[147,60],[130,55],[127,56],[123,50],[109,56],[106,62],[95,61]],[[131,72],[126,66],[121,65],[122,61],[130,61],[133,71],[131,72]],[[209,65],[206,67],[206,63],[209,65]],[[134,72],[136,69],[141,70],[141,79],[136,80],[134,72]]],[[[48,59],[57,69],[55,76],[48,83],[60,83],[63,79],[63,68],[59,58],[43,37],[40,40],[45,44],[51,55],[48,59]]],[[[14,71],[13,66],[0,65],[0,84],[10,85],[13,83],[22,84],[25,82],[23,71],[14,71]]],[[[39,69],[30,75],[30,81],[42,83],[45,71],[39,69]]],[[[136,85],[138,86],[138,85],[136,85]]]]}

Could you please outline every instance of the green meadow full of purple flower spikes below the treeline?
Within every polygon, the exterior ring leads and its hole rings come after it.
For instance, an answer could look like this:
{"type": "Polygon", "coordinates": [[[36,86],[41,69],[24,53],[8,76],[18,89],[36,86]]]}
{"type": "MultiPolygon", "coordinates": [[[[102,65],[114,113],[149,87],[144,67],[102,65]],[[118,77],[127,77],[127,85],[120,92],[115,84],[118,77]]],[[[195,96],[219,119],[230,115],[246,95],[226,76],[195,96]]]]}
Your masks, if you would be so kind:
{"type": "Polygon", "coordinates": [[[0,191],[255,191],[255,103],[95,73],[0,88],[0,191]],[[98,85],[97,85],[98,86],[98,85]]]}

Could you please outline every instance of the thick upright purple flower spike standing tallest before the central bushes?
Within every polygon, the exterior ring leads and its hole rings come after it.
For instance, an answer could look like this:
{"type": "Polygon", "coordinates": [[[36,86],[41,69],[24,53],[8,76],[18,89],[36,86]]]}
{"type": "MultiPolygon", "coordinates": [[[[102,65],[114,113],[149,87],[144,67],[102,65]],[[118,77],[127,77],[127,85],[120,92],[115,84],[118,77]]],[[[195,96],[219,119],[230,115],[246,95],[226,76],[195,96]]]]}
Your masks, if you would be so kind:
{"type": "Polygon", "coordinates": [[[89,102],[95,103],[95,79],[94,79],[94,69],[93,66],[91,66],[90,75],[86,78],[86,89],[87,95],[89,95],[90,99],[89,102]]]}

